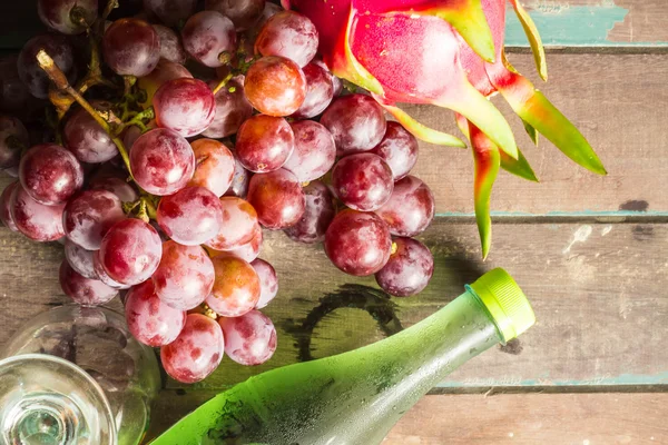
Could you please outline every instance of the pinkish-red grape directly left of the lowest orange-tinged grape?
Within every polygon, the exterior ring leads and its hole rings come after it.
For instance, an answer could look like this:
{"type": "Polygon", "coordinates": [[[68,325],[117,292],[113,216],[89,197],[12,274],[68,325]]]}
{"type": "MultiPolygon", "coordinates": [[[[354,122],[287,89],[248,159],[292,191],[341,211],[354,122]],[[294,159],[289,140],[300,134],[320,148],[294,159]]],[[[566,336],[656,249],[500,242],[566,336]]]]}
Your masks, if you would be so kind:
{"type": "Polygon", "coordinates": [[[202,247],[166,241],[153,281],[163,303],[190,310],[208,297],[215,277],[214,265],[202,247]]]}

